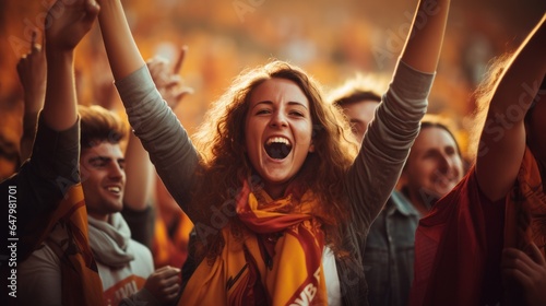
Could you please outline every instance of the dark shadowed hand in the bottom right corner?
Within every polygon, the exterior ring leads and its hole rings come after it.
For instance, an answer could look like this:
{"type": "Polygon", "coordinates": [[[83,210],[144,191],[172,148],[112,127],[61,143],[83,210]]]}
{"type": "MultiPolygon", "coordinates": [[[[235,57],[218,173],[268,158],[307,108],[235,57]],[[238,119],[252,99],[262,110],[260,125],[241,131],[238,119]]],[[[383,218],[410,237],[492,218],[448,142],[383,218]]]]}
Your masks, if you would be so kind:
{"type": "Polygon", "coordinates": [[[527,255],[515,248],[505,248],[502,274],[522,285],[529,305],[546,305],[546,259],[534,243],[530,249],[527,255]]]}

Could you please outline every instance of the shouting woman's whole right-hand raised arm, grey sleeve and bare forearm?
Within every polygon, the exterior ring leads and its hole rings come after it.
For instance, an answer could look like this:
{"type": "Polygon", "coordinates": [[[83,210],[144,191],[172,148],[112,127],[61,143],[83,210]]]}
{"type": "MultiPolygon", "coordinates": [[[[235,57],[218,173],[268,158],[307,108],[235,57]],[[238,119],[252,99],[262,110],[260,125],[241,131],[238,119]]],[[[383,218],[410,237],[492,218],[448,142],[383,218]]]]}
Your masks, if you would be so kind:
{"type": "Polygon", "coordinates": [[[369,225],[400,178],[427,109],[442,45],[449,0],[418,2],[416,16],[391,84],[353,164],[347,192],[355,220],[369,225]]]}

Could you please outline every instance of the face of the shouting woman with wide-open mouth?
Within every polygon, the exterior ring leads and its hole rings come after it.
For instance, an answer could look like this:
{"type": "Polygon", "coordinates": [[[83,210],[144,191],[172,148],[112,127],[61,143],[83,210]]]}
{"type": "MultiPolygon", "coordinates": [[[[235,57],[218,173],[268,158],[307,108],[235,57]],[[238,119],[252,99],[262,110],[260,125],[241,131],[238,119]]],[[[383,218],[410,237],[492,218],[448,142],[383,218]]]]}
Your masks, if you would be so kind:
{"type": "Polygon", "coordinates": [[[270,79],[250,95],[245,125],[246,152],[263,179],[265,191],[278,198],[313,152],[309,101],[292,81],[270,79]]]}

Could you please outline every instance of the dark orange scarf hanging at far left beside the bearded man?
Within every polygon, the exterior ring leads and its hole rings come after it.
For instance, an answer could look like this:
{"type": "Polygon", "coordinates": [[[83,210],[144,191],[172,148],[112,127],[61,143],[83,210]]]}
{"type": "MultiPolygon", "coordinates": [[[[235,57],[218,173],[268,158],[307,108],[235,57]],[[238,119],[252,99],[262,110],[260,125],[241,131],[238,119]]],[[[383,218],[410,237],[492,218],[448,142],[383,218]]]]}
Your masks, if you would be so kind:
{"type": "Polygon", "coordinates": [[[68,190],[51,217],[35,224],[40,226],[31,228],[28,235],[23,237],[31,251],[48,238],[54,226],[63,226],[69,234],[61,246],[48,239],[61,263],[62,305],[103,305],[103,283],[91,252],[82,185],[68,190]]]}

